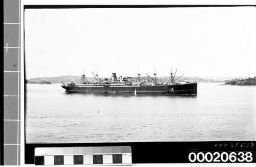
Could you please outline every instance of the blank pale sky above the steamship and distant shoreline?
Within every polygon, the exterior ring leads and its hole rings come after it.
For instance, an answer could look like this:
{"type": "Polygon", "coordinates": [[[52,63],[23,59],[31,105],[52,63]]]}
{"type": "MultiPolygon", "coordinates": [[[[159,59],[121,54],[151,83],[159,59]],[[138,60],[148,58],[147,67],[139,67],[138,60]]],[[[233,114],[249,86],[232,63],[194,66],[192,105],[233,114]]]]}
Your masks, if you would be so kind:
{"type": "Polygon", "coordinates": [[[26,78],[256,76],[256,8],[26,9],[26,78]]]}

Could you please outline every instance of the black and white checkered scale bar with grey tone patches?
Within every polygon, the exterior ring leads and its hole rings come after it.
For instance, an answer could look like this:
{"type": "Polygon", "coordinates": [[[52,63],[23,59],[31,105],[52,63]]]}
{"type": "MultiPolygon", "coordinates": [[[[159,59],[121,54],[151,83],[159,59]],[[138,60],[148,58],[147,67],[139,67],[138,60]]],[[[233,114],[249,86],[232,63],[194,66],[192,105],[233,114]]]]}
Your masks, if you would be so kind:
{"type": "Polygon", "coordinates": [[[37,147],[35,165],[131,165],[130,146],[115,147],[37,147]]]}

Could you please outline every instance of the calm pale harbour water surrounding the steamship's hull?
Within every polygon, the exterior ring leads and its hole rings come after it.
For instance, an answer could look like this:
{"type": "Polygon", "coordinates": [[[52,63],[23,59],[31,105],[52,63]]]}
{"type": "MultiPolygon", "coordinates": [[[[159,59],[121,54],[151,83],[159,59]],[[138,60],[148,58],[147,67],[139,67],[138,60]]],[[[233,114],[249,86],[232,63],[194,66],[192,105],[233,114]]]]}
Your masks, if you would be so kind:
{"type": "Polygon", "coordinates": [[[27,143],[256,140],[256,87],[198,84],[197,97],[66,94],[27,84],[27,143]]]}

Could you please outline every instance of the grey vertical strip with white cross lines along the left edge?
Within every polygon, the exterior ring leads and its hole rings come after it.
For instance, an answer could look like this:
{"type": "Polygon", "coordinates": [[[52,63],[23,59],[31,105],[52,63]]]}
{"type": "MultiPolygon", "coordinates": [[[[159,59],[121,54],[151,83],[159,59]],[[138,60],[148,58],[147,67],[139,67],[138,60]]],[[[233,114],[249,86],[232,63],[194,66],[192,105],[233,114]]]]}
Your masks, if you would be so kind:
{"type": "Polygon", "coordinates": [[[1,164],[20,162],[20,0],[4,0],[4,141],[1,164]],[[15,60],[15,61],[14,61],[15,60]],[[13,81],[14,84],[8,84],[13,81]],[[14,106],[13,106],[14,105],[14,106]],[[8,106],[8,107],[6,107],[8,106]],[[9,109],[7,109],[9,108],[9,109]],[[12,112],[10,112],[12,110],[12,112]],[[11,113],[15,113],[11,115],[11,113]],[[15,116],[14,116],[15,115],[15,116]]]}

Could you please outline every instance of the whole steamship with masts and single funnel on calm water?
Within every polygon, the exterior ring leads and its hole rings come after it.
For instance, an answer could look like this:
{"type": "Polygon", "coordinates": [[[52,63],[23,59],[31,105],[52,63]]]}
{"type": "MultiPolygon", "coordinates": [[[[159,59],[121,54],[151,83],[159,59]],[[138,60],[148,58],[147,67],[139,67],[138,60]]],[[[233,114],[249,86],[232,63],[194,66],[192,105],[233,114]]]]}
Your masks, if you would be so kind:
{"type": "MultiPolygon", "coordinates": [[[[98,71],[98,70],[97,70],[98,71]]],[[[177,69],[176,69],[177,72],[177,69]]],[[[176,74],[175,72],[175,74],[176,74]]],[[[93,72],[92,72],[93,73],[93,72]]],[[[147,74],[147,73],[146,73],[147,74]]],[[[66,90],[66,93],[87,93],[87,94],[156,94],[156,95],[197,95],[196,81],[177,80],[175,79],[172,70],[168,81],[159,81],[156,77],[147,74],[147,80],[141,81],[140,73],[136,81],[132,77],[117,77],[116,73],[112,73],[111,78],[98,78],[98,73],[94,75],[95,82],[89,82],[84,73],[81,76],[80,83],[65,82],[61,83],[61,87],[66,90]]]]}

